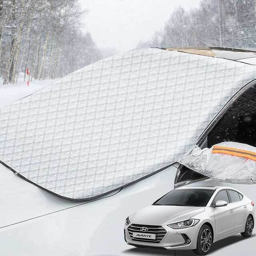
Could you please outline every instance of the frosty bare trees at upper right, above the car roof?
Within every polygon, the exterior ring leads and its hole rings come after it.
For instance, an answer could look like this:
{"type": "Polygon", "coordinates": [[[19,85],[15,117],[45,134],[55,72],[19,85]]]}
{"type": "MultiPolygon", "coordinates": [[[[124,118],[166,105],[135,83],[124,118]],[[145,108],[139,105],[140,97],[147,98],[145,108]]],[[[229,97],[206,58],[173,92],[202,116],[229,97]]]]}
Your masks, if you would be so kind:
{"type": "Polygon", "coordinates": [[[255,0],[202,0],[199,8],[177,8],[162,31],[138,48],[231,47],[256,48],[255,0]]]}

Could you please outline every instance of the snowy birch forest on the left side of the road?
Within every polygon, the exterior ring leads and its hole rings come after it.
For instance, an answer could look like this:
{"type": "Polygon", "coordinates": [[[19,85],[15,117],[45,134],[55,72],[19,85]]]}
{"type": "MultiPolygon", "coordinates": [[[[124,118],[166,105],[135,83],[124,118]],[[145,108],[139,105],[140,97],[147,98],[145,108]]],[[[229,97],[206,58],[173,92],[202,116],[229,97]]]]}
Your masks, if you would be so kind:
{"type": "Polygon", "coordinates": [[[84,12],[78,0],[0,0],[0,80],[17,74],[54,79],[101,58],[89,33],[82,33],[84,12]]]}

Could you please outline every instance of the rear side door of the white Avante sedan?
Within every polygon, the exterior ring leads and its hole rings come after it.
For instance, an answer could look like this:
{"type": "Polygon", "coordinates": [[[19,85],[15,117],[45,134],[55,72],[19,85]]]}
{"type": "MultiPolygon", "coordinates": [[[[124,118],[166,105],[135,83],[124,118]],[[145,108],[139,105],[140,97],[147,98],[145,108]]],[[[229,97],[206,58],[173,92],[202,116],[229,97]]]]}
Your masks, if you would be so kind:
{"type": "Polygon", "coordinates": [[[238,192],[234,190],[228,189],[228,195],[230,198],[230,205],[234,209],[234,231],[239,231],[244,229],[245,221],[246,221],[246,203],[243,203],[238,192]]]}

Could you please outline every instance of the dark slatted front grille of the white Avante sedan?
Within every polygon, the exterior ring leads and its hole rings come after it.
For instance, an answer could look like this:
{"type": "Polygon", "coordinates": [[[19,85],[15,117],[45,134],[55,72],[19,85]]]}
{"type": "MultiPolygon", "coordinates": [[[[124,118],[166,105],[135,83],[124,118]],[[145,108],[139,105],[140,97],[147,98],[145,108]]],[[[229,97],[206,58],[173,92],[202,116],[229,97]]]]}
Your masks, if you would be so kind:
{"type": "Polygon", "coordinates": [[[128,232],[130,234],[130,237],[131,237],[132,241],[159,244],[163,240],[163,238],[166,235],[167,231],[162,226],[150,226],[150,225],[131,224],[128,227],[128,232]],[[140,230],[140,228],[142,228],[142,227],[148,228],[148,231],[147,232],[142,232],[140,230]],[[143,238],[133,238],[132,237],[132,233],[133,232],[139,232],[139,233],[144,233],[144,234],[156,234],[156,240],[143,239],[143,238]]]}

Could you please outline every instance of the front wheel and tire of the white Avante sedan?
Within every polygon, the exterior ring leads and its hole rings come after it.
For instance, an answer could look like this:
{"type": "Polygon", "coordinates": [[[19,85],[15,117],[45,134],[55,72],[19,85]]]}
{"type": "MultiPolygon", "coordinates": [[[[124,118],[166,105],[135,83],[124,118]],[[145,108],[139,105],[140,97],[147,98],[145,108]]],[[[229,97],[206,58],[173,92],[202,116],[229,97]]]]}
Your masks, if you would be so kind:
{"type": "Polygon", "coordinates": [[[212,229],[207,224],[204,224],[198,232],[196,249],[193,250],[194,253],[197,255],[208,254],[212,248],[212,240],[212,229]]]}

